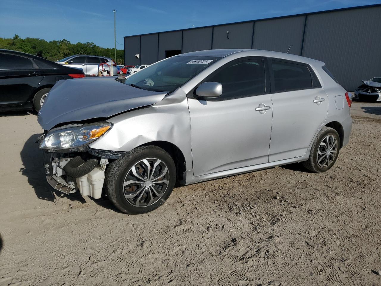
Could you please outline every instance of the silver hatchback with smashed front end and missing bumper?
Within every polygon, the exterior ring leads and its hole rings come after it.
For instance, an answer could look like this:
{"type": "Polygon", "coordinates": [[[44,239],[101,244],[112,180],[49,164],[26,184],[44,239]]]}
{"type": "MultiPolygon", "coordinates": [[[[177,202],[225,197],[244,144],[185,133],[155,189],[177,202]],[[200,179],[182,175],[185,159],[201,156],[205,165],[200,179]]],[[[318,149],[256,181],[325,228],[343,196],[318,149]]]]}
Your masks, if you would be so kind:
{"type": "Polygon", "coordinates": [[[352,95],[321,61],[260,50],[164,59],[124,79],[61,80],[38,114],[53,188],[126,214],[188,185],[294,162],[329,170],[352,129],[352,95]],[[107,90],[110,96],[97,91],[107,90]]]}

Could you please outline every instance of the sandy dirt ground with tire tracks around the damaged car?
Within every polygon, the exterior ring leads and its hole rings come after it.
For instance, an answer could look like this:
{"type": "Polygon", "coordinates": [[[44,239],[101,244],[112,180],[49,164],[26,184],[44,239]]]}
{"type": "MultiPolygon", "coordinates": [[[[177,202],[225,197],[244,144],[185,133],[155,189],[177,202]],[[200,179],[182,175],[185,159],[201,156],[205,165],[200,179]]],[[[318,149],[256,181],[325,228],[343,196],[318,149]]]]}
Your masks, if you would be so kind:
{"type": "Polygon", "coordinates": [[[292,164],[179,187],[132,216],[53,191],[37,117],[3,114],[0,285],[381,285],[381,103],[352,117],[324,174],[292,164]]]}

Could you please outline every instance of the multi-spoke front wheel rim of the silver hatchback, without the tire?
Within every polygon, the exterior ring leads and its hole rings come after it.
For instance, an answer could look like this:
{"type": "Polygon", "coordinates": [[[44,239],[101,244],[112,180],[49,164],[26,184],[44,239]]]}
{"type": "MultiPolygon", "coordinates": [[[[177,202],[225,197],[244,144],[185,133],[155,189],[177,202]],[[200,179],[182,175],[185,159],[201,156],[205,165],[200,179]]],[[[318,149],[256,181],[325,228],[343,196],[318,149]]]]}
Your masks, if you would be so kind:
{"type": "Polygon", "coordinates": [[[123,195],[135,207],[148,207],[160,200],[168,188],[170,174],[165,163],[146,158],[134,164],[123,180],[123,195]]]}

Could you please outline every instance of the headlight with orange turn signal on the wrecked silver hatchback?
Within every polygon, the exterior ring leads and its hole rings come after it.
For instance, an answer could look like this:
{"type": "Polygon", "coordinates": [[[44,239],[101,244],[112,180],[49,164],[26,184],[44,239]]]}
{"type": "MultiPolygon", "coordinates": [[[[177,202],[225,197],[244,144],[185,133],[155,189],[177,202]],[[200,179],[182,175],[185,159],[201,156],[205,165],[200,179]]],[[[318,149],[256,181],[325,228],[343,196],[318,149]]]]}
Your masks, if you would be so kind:
{"type": "Polygon", "coordinates": [[[70,151],[80,150],[99,137],[104,135],[112,124],[109,122],[96,122],[77,127],[54,130],[48,133],[40,143],[40,149],[56,151],[70,149],[70,151]]]}

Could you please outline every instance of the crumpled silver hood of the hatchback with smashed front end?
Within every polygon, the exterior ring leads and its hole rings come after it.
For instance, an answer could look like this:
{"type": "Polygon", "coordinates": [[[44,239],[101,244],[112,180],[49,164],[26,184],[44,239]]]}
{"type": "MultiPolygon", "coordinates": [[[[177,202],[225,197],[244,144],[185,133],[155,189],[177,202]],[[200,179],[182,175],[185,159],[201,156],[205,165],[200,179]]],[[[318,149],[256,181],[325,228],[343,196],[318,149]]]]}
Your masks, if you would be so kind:
{"type": "Polygon", "coordinates": [[[107,118],[155,104],[166,93],[131,87],[115,77],[60,80],[50,90],[37,120],[43,129],[50,130],[60,123],[107,118]]]}

